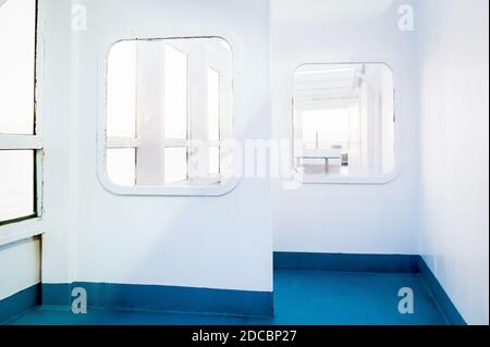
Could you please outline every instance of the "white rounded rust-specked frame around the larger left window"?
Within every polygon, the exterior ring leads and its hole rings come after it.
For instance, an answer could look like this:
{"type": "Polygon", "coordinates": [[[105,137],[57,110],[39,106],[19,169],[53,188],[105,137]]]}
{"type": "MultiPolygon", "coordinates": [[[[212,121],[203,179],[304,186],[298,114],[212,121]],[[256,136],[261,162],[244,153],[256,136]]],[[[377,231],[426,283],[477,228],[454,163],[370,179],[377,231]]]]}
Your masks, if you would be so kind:
{"type": "MultiPolygon", "coordinates": [[[[114,184],[107,173],[107,149],[122,149],[122,148],[135,148],[138,147],[138,140],[128,140],[124,138],[111,138],[108,139],[107,134],[107,78],[108,78],[108,61],[109,54],[113,46],[122,41],[133,41],[133,40],[175,40],[175,39],[199,39],[199,38],[217,38],[224,40],[231,48],[231,59],[232,59],[232,88],[235,85],[235,79],[241,78],[241,72],[236,67],[236,55],[240,49],[237,48],[237,41],[233,38],[231,33],[220,36],[220,35],[180,35],[163,38],[122,38],[113,41],[109,45],[103,55],[103,61],[99,61],[100,74],[99,74],[99,87],[103,90],[103,102],[99,102],[98,106],[98,120],[97,120],[97,176],[101,185],[110,193],[122,196],[175,196],[175,197],[221,197],[230,194],[236,188],[240,183],[237,177],[226,177],[225,183],[219,185],[211,185],[210,179],[206,179],[203,185],[199,184],[172,184],[172,185],[154,185],[154,186],[133,186],[125,187],[114,184]],[[224,36],[226,38],[224,38],[224,36]]],[[[212,63],[210,63],[212,67],[212,63]]],[[[237,115],[237,103],[235,102],[235,94],[232,90],[231,96],[232,106],[232,120],[231,123],[234,124],[235,117],[237,115]]],[[[187,122],[188,128],[187,133],[193,131],[192,122],[187,122]]],[[[207,127],[205,127],[207,129],[207,127]]],[[[235,128],[231,131],[233,138],[236,138],[235,128]]],[[[210,144],[212,145],[212,144],[210,144]]],[[[192,147],[192,139],[184,140],[166,140],[164,148],[171,147],[192,147]]],[[[207,152],[207,151],[206,151],[207,152]]],[[[207,156],[206,156],[207,158],[207,156]]],[[[192,170],[191,161],[188,161],[188,172],[192,170]]]]}

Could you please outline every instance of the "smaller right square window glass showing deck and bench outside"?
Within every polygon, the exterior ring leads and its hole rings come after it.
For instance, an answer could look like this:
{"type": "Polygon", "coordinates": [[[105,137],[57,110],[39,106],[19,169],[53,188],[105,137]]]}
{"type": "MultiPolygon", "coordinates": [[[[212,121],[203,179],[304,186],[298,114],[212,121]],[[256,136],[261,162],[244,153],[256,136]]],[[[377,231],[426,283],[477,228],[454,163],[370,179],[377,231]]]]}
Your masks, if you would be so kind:
{"type": "Polygon", "coordinates": [[[381,63],[305,64],[294,75],[293,162],[304,183],[397,174],[393,73],[381,63]]]}

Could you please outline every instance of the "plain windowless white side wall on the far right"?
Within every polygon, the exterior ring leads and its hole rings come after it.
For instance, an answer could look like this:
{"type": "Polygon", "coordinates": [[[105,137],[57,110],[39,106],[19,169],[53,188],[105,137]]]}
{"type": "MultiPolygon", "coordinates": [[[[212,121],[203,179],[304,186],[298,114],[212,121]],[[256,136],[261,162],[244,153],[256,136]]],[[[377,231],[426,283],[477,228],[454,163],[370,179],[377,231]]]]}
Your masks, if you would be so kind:
{"type": "Polygon", "coordinates": [[[470,324],[489,322],[489,2],[421,1],[424,257],[470,324]]]}

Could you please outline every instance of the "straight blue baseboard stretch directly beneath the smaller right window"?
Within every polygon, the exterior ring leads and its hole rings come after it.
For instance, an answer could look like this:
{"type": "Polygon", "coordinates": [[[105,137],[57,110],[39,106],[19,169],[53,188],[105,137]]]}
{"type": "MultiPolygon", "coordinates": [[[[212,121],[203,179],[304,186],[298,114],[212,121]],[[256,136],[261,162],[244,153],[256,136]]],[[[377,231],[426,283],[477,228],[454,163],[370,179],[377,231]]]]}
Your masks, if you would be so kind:
{"type": "Polygon", "coordinates": [[[274,270],[418,273],[418,256],[274,252],[274,270]]]}

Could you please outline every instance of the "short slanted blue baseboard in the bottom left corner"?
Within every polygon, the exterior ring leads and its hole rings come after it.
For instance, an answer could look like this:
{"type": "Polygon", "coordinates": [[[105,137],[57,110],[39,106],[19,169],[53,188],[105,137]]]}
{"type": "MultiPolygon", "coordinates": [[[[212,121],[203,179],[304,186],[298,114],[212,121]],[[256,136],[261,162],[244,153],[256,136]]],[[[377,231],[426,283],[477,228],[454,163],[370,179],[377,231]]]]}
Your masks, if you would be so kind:
{"type": "Polygon", "coordinates": [[[34,285],[0,300],[0,324],[40,303],[40,285],[34,285]]]}

